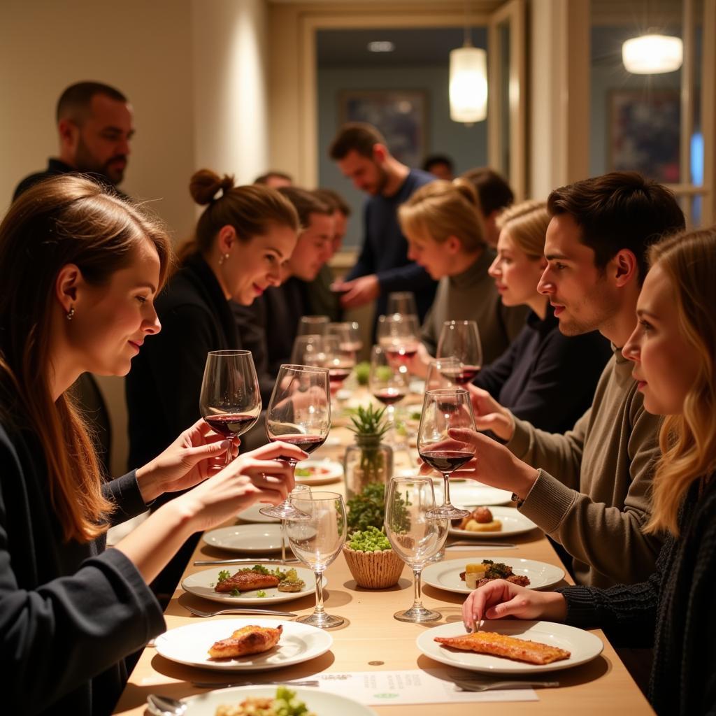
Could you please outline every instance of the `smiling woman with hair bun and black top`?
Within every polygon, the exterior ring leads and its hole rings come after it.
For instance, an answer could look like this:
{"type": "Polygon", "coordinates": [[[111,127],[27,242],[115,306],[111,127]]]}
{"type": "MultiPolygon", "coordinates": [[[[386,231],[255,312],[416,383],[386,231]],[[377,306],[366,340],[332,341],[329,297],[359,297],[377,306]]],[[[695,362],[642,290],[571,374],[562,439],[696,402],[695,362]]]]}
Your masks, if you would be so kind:
{"type": "MultiPolygon", "coordinates": [[[[235,187],[231,177],[206,169],[192,176],[189,189],[206,208],[156,301],[162,332],[127,377],[130,467],[150,460],[200,417],[206,354],[243,347],[229,301],[248,306],[278,286],[281,264],[296,246],[298,215],[275,189],[235,187]]],[[[196,540],[153,585],[157,594],[173,592],[196,540]]]]}

